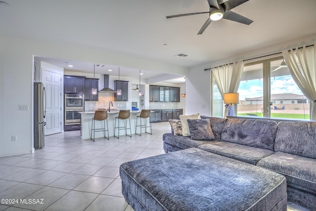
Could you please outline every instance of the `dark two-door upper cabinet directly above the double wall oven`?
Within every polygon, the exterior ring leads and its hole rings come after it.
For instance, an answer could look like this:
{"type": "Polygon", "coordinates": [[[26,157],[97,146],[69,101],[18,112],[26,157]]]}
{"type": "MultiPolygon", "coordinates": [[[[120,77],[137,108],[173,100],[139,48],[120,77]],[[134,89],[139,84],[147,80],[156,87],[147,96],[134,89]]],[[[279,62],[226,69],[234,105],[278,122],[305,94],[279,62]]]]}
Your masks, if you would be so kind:
{"type": "Polygon", "coordinates": [[[81,76],[64,76],[64,92],[65,93],[83,93],[84,78],[81,76]]]}

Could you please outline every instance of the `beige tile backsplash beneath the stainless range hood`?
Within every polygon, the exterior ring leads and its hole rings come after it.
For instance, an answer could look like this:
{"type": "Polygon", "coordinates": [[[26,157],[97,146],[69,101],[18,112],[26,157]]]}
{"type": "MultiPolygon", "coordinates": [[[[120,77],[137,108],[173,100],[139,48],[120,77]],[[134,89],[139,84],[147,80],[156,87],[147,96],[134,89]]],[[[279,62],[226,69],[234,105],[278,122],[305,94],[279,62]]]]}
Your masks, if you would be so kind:
{"type": "Polygon", "coordinates": [[[84,101],[84,111],[95,111],[98,109],[108,109],[109,103],[112,102],[111,108],[118,110],[126,109],[126,102],[115,101],[113,93],[99,92],[98,101],[84,101]]]}

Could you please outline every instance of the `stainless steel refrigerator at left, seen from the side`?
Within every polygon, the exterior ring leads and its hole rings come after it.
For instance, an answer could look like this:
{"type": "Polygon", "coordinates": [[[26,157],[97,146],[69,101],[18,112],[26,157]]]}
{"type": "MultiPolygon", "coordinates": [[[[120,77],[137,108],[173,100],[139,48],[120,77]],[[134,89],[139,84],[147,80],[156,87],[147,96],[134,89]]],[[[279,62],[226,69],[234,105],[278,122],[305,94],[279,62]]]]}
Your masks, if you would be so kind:
{"type": "Polygon", "coordinates": [[[34,148],[44,146],[44,127],[46,115],[46,90],[44,84],[34,83],[34,148]]]}

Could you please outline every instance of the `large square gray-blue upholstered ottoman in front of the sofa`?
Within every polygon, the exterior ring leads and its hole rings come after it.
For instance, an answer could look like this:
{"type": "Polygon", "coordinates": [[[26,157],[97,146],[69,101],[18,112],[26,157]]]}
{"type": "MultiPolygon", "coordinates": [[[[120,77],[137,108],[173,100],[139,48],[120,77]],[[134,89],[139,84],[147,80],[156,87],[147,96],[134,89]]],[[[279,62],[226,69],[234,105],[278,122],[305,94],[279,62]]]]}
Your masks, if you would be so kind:
{"type": "Polygon", "coordinates": [[[284,176],[197,148],[130,161],[119,174],[135,211],[286,211],[284,176]]]}

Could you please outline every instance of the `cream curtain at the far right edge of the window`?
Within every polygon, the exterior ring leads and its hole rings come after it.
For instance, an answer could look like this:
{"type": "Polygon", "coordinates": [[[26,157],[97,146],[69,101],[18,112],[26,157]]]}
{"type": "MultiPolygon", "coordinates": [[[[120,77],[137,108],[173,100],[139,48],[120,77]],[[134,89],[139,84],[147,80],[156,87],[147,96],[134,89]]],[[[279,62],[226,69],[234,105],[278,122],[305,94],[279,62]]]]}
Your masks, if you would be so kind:
{"type": "Polygon", "coordinates": [[[283,50],[282,54],[288,69],[301,89],[310,100],[310,119],[316,120],[316,45],[283,50]]]}

